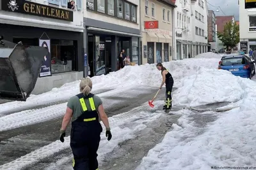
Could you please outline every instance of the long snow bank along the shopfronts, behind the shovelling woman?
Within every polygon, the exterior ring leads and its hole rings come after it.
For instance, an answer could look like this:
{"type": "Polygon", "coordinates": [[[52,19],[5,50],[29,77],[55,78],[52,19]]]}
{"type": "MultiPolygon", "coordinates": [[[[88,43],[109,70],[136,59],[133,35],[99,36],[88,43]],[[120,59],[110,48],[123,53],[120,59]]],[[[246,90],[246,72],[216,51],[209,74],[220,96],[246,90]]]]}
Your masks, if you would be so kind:
{"type": "MultiPolygon", "coordinates": [[[[175,80],[174,87],[182,86],[182,78],[196,73],[199,67],[218,67],[220,55],[216,53],[202,53],[198,59],[184,59],[164,62],[163,65],[175,80]],[[205,57],[204,57],[205,56],[205,57]]],[[[92,78],[92,92],[104,89],[123,89],[125,87],[138,87],[142,85],[159,87],[161,83],[161,73],[156,69],[156,64],[145,64],[141,66],[126,66],[119,71],[111,72],[107,75],[94,76],[92,78]],[[113,83],[115,82],[115,83],[113,83]]],[[[65,101],[79,93],[80,81],[66,83],[60,88],[54,88],[49,92],[39,95],[31,95],[27,101],[13,101],[0,104],[0,115],[6,111],[15,111],[20,108],[31,108],[42,104],[65,101]]]]}

